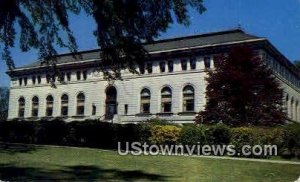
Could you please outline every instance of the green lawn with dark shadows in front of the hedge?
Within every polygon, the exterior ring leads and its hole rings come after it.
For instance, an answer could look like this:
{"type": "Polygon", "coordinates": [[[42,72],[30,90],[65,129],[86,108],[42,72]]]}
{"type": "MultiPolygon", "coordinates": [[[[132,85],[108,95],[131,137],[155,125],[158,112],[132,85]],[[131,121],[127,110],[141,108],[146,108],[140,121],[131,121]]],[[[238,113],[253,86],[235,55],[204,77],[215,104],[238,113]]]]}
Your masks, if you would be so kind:
{"type": "Polygon", "coordinates": [[[295,181],[300,165],[183,156],[119,156],[115,151],[1,146],[0,180],[295,181]]]}

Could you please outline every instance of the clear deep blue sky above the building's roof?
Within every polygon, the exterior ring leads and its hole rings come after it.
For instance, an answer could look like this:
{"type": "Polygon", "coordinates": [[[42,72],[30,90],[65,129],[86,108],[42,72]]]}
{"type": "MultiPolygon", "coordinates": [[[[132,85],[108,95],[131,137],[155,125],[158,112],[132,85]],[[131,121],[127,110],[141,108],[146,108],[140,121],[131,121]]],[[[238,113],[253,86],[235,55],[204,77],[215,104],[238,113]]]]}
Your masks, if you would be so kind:
{"type": "MultiPolygon", "coordinates": [[[[191,24],[188,27],[174,23],[159,39],[195,35],[238,28],[259,37],[267,38],[290,61],[300,60],[300,0],[204,0],[207,11],[199,14],[189,9],[191,24]]],[[[95,23],[81,14],[70,17],[71,30],[77,38],[79,50],[95,49],[92,32],[95,23]]],[[[16,67],[37,60],[36,50],[11,50],[16,67]]],[[[59,50],[65,53],[66,50],[59,50]]],[[[0,60],[0,87],[9,86],[5,74],[7,66],[0,60]]]]}

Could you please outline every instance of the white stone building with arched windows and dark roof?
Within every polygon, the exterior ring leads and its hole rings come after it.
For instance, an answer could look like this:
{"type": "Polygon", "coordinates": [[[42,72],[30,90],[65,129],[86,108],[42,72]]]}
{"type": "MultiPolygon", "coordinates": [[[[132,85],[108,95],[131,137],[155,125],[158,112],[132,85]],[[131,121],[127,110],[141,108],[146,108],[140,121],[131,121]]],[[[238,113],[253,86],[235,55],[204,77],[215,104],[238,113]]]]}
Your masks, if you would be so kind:
{"type": "Polygon", "coordinates": [[[282,83],[290,119],[300,121],[300,74],[267,39],[237,30],[156,41],[145,45],[152,61],[143,74],[122,71],[123,80],[108,82],[95,68],[99,50],[81,52],[82,60],[62,54],[57,66],[64,82],[50,87],[47,67],[36,62],[9,71],[9,119],[100,119],[138,122],[160,117],[193,122],[205,105],[206,70],[214,56],[231,46],[251,46],[282,83]]]}

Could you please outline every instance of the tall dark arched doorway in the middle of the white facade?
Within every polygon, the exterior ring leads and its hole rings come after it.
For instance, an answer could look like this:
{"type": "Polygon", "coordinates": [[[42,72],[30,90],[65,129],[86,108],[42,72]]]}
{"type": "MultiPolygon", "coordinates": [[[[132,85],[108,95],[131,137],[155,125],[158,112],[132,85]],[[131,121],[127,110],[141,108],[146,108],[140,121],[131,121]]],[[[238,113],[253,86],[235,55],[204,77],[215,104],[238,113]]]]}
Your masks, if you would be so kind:
{"type": "Polygon", "coordinates": [[[112,119],[118,110],[117,90],[114,86],[109,86],[106,88],[105,93],[105,119],[112,119]]]}

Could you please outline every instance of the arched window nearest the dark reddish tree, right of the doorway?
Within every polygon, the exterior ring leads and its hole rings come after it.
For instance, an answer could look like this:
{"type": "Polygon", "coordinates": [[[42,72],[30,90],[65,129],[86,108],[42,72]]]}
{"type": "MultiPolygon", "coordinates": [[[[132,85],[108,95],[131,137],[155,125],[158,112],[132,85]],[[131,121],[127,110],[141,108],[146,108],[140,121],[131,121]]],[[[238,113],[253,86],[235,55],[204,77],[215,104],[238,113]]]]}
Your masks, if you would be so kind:
{"type": "Polygon", "coordinates": [[[194,111],[195,91],[190,85],[183,88],[183,112],[194,111]]]}

